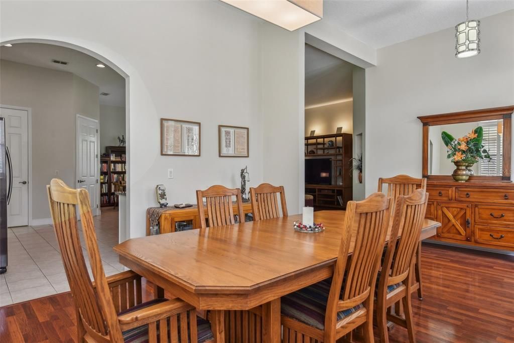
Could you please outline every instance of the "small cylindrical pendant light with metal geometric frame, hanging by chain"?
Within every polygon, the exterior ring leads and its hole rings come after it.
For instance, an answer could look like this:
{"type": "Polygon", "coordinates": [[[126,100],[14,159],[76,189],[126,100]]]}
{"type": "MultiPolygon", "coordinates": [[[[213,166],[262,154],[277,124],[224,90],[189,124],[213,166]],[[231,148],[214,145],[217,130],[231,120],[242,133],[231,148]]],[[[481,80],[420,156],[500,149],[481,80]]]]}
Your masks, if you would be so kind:
{"type": "Polygon", "coordinates": [[[466,21],[455,25],[455,57],[466,58],[480,53],[480,21],[469,20],[466,0],[466,21]]]}

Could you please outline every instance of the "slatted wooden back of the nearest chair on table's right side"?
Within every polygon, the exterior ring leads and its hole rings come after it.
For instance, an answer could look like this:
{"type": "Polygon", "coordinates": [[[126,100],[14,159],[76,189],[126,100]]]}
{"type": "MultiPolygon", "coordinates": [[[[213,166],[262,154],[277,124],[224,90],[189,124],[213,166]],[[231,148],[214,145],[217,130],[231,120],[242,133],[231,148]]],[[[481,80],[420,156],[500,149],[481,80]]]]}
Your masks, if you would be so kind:
{"type": "Polygon", "coordinates": [[[372,306],[373,287],[391,208],[391,198],[383,193],[374,193],[363,201],[351,201],[346,205],[341,245],[328,296],[325,328],[334,326],[338,311],[350,309],[363,300],[372,306]],[[347,263],[352,244],[353,254],[347,263]]]}

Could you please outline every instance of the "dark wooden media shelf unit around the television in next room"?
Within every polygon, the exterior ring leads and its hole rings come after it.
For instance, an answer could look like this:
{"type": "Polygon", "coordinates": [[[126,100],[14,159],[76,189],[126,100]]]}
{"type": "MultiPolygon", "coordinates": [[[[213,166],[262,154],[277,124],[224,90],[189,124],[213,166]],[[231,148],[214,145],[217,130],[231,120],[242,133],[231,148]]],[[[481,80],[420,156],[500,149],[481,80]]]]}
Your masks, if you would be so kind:
{"type": "Polygon", "coordinates": [[[346,203],[352,200],[352,141],[350,133],[305,137],[306,159],[330,158],[332,161],[332,185],[305,185],[305,194],[314,197],[316,210],[344,210],[346,203]]]}

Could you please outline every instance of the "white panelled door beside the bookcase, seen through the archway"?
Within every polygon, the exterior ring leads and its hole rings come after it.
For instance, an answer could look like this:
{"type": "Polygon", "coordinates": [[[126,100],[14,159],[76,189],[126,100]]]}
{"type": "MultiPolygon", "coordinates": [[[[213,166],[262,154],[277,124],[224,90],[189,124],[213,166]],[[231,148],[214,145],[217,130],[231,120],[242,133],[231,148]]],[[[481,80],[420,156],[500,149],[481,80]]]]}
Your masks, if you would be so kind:
{"type": "Polygon", "coordinates": [[[98,121],[77,115],[77,188],[87,189],[93,215],[99,214],[98,121]]]}

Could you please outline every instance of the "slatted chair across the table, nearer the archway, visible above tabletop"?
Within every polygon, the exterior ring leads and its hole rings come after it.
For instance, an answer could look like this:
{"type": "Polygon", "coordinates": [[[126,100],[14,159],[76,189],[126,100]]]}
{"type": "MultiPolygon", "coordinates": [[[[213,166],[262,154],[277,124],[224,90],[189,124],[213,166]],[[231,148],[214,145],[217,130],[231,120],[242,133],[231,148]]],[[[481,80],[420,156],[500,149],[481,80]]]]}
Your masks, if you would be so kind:
{"type": "Polygon", "coordinates": [[[221,185],[215,185],[206,190],[196,191],[196,201],[198,207],[198,216],[200,218],[200,227],[206,228],[205,209],[207,207],[207,215],[209,227],[235,224],[234,209],[232,197],[235,196],[237,205],[237,216],[240,222],[244,222],[245,215],[243,213],[243,201],[241,199],[241,190],[239,188],[227,188],[221,185]],[[204,204],[204,198],[206,203],[204,204]]]}

